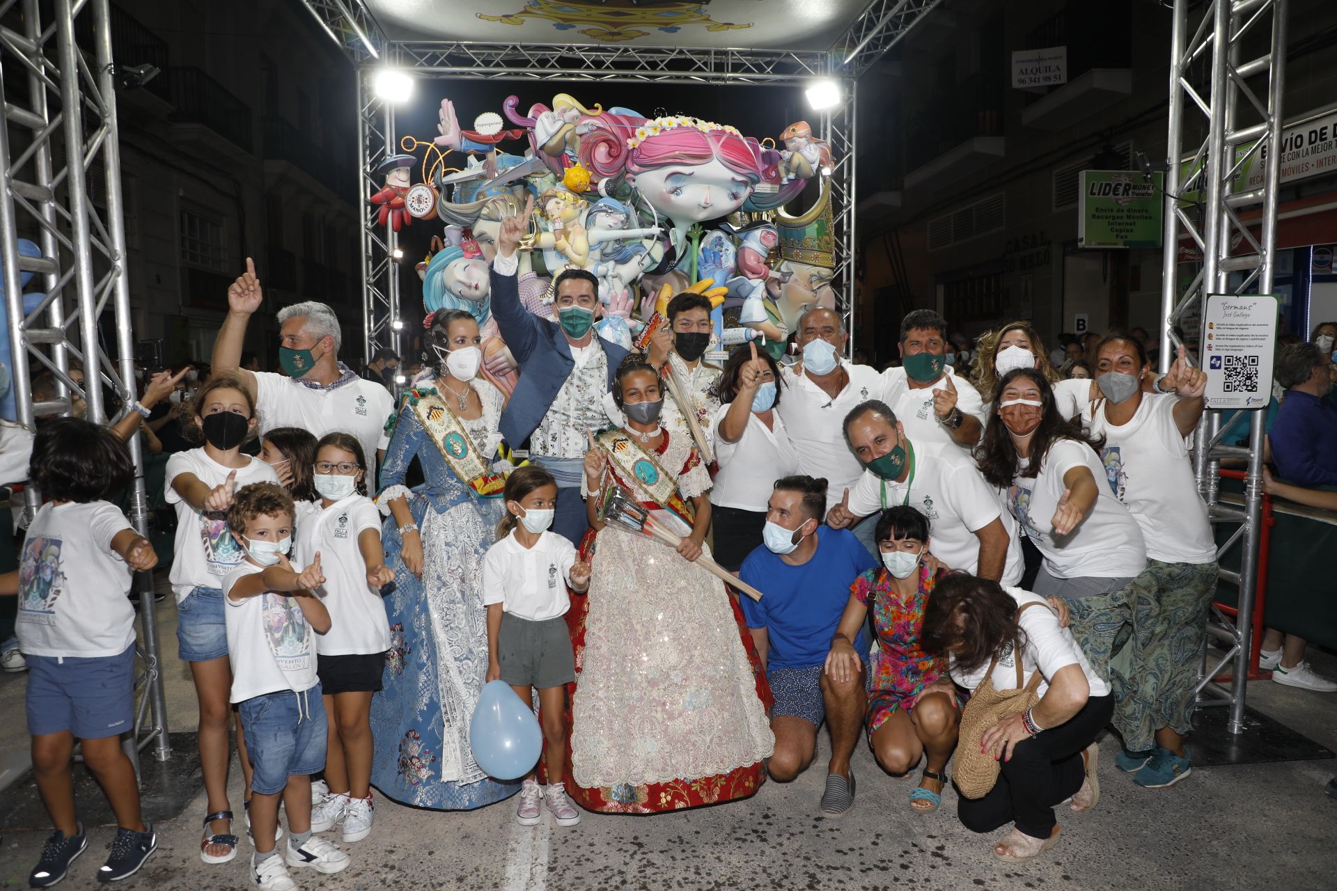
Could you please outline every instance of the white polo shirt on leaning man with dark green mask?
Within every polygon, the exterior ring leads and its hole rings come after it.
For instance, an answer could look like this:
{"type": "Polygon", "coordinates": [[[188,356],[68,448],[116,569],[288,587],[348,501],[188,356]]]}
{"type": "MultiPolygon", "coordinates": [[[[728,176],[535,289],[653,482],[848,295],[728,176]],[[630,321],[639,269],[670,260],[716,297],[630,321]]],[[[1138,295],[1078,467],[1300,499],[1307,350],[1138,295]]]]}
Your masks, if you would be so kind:
{"type": "Polygon", "coordinates": [[[913,477],[906,476],[905,482],[888,482],[884,505],[881,477],[865,470],[858,484],[850,489],[850,512],[866,517],[884,506],[908,504],[928,517],[929,550],[933,556],[951,569],[972,576],[980,568],[980,540],[975,533],[1000,520],[1008,533],[1001,584],[1017,584],[1025,566],[1016,524],[1001,509],[997,494],[984,481],[975,461],[956,443],[913,442],[913,477]]]}

